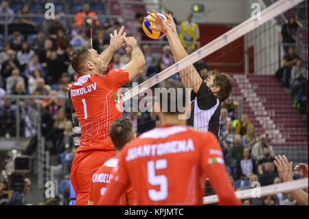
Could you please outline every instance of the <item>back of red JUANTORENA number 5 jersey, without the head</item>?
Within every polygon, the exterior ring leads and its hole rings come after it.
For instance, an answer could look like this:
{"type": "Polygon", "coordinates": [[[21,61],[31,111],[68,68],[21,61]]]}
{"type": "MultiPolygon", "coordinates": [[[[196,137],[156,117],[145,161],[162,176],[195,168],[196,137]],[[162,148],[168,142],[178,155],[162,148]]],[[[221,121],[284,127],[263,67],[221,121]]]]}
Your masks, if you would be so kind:
{"type": "Polygon", "coordinates": [[[138,205],[202,205],[202,163],[223,161],[212,133],[186,126],[145,132],[122,152],[138,205]]]}

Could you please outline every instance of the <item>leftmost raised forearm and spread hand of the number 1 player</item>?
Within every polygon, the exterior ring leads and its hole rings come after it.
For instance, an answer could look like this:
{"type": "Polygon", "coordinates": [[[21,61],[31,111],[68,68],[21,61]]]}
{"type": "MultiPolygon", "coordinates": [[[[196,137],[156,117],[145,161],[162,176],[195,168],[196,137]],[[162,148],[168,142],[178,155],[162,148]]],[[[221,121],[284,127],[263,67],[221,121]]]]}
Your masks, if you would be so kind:
{"type": "Polygon", "coordinates": [[[120,28],[119,33],[117,33],[117,30],[114,30],[114,34],[110,34],[109,36],[111,36],[111,41],[108,47],[101,53],[101,56],[104,57],[104,62],[106,65],[111,62],[115,52],[120,49],[124,43],[124,38],[126,37],[124,27],[120,28]]]}

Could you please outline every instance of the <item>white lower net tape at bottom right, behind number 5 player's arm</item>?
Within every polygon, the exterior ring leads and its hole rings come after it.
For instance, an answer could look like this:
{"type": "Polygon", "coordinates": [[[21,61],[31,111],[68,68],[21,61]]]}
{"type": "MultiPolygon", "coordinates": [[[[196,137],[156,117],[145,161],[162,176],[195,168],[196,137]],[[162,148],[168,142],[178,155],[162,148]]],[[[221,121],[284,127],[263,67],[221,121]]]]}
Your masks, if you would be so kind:
{"type": "MultiPolygon", "coordinates": [[[[245,198],[258,198],[259,196],[268,196],[271,194],[276,194],[280,192],[290,192],[296,189],[308,188],[308,178],[303,178],[295,181],[290,181],[286,183],[277,183],[275,185],[266,185],[263,187],[255,187],[253,189],[246,189],[235,192],[238,199],[245,198]]],[[[218,203],[218,195],[205,196],[203,198],[203,204],[218,203]]]]}

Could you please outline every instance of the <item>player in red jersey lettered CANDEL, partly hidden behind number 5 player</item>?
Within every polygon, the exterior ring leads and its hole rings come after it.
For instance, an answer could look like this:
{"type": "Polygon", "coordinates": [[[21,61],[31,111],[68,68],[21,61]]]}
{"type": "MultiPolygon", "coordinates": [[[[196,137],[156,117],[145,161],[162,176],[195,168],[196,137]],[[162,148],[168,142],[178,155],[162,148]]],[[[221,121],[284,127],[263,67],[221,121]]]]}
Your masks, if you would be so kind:
{"type": "MultiPolygon", "coordinates": [[[[111,142],[116,148],[116,156],[106,161],[95,174],[93,174],[90,181],[90,192],[88,205],[97,205],[98,199],[104,195],[108,183],[111,181],[112,170],[117,166],[118,157],[122,148],[129,141],[136,139],[134,126],[131,119],[122,117],[116,119],[109,129],[111,142]]],[[[122,195],[118,201],[118,205],[135,205],[136,199],[133,193],[132,186],[128,187],[126,193],[122,195]]]]}

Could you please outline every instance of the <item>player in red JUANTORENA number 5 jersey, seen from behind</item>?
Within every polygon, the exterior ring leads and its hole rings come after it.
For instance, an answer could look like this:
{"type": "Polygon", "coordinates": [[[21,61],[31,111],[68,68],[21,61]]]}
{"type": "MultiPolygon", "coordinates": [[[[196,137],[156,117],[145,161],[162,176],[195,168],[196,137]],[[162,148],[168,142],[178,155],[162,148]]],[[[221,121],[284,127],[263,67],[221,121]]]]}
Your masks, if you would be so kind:
{"type": "Polygon", "coordinates": [[[175,106],[186,102],[183,85],[170,81],[165,88],[161,89],[156,107],[161,126],[144,132],[124,147],[98,205],[115,205],[128,185],[137,194],[137,205],[203,205],[205,177],[218,194],[220,205],[240,205],[215,135],[185,126],[185,119],[178,119],[182,113],[171,111],[171,100],[175,106]],[[170,89],[176,90],[176,97],[168,95],[170,89]],[[168,99],[166,113],[162,110],[166,106],[162,105],[163,96],[168,99]]]}

